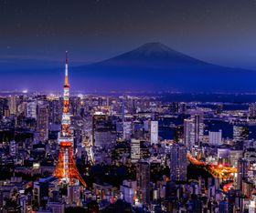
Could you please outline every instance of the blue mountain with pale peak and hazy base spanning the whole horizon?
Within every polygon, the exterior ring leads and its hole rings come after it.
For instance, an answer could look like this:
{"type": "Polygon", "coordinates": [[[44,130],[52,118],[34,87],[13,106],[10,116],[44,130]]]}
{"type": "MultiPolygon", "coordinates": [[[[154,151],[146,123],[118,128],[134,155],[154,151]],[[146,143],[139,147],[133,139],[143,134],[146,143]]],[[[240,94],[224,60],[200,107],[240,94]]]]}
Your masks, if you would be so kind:
{"type": "MultiPolygon", "coordinates": [[[[64,67],[1,74],[12,89],[61,90],[64,67]]],[[[216,66],[161,43],[147,43],[91,65],[69,64],[71,91],[255,92],[256,71],[216,66]]]]}

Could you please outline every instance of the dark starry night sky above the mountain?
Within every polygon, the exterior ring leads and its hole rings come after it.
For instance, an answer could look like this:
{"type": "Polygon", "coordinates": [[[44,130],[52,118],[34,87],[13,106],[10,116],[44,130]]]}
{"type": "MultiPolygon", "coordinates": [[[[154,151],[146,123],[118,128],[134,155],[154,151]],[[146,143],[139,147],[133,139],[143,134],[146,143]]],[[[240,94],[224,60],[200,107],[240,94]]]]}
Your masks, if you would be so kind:
{"type": "Polygon", "coordinates": [[[161,42],[221,66],[256,69],[255,0],[0,0],[0,72],[117,56],[161,42]]]}

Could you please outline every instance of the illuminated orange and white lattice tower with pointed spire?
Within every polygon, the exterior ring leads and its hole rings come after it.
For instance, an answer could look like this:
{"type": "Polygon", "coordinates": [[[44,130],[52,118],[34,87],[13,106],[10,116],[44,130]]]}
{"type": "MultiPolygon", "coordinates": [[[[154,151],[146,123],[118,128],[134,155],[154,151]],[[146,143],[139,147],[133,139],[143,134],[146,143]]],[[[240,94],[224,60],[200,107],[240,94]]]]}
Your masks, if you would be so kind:
{"type": "Polygon", "coordinates": [[[73,153],[73,136],[70,131],[70,114],[69,114],[69,72],[68,72],[68,56],[66,52],[65,66],[65,84],[63,96],[63,109],[61,120],[61,132],[59,134],[59,159],[55,167],[54,176],[59,178],[59,182],[68,185],[80,183],[86,187],[86,183],[80,176],[76,167],[73,153]]]}

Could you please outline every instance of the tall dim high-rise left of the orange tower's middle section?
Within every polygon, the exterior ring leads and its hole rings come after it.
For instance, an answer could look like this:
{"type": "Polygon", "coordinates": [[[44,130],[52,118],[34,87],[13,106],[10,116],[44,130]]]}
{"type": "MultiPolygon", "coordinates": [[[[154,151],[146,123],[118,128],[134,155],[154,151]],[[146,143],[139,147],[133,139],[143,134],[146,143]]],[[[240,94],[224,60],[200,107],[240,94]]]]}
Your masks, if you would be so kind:
{"type": "Polygon", "coordinates": [[[37,132],[39,140],[48,139],[48,105],[37,105],[37,132]]]}

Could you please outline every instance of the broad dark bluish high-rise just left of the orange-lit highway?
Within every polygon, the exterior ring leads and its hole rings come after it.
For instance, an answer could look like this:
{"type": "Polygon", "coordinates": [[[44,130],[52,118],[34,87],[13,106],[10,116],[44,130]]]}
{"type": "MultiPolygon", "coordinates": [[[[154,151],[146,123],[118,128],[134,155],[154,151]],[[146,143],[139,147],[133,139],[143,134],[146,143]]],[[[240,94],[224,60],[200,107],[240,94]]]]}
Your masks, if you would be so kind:
{"type": "Polygon", "coordinates": [[[187,147],[173,144],[169,149],[170,177],[173,180],[187,180],[187,147]]]}

